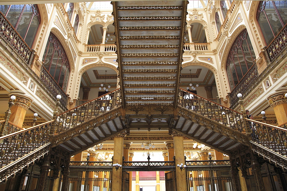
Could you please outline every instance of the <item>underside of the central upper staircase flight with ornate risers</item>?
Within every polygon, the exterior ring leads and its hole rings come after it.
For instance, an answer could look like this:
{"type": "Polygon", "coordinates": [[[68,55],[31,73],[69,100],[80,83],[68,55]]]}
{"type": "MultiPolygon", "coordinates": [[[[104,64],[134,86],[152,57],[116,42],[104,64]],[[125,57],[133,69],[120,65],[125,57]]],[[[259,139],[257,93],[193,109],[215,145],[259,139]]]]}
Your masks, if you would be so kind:
{"type": "Polygon", "coordinates": [[[113,4],[124,105],[176,104],[187,1],[113,4]]]}

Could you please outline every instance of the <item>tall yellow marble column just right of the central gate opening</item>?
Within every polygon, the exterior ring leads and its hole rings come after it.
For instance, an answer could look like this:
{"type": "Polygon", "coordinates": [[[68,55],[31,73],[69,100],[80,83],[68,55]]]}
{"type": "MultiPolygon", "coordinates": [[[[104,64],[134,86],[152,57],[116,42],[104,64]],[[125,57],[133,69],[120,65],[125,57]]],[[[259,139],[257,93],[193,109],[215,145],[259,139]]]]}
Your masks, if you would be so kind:
{"type": "MultiPolygon", "coordinates": [[[[181,134],[172,134],[173,142],[174,142],[174,154],[175,154],[175,165],[177,164],[185,164],[184,158],[184,150],[183,150],[183,136],[181,134]]],[[[177,177],[177,190],[187,191],[186,185],[186,174],[185,170],[181,170],[179,168],[175,168],[175,173],[177,177]],[[182,181],[184,180],[184,181],[182,181]]]]}

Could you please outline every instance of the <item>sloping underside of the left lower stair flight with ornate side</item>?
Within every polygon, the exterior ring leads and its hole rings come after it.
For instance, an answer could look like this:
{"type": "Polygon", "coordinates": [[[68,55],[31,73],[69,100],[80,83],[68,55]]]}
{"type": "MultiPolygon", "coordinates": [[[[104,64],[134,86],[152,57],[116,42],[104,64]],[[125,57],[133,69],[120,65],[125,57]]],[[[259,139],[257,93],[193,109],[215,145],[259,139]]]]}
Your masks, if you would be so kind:
{"type": "Polygon", "coordinates": [[[121,118],[121,106],[66,130],[53,138],[58,146],[74,155],[112,138],[126,130],[121,118]]]}

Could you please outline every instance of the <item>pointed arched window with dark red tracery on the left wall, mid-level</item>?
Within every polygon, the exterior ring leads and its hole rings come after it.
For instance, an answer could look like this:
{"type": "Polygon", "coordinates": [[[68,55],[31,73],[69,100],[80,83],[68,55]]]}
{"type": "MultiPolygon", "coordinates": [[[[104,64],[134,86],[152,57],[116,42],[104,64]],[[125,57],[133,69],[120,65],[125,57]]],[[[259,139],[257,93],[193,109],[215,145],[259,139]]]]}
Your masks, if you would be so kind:
{"type": "Polygon", "coordinates": [[[44,67],[65,91],[70,74],[70,64],[59,39],[50,33],[42,61],[44,67]]]}

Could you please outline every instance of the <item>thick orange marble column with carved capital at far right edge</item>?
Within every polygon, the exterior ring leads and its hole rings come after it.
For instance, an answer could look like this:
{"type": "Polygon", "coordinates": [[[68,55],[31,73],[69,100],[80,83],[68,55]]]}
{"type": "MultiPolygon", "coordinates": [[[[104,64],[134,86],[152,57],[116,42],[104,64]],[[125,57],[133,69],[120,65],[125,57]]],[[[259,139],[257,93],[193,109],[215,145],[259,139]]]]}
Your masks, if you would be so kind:
{"type": "MultiPolygon", "coordinates": [[[[286,93],[287,91],[285,91],[286,93]]],[[[287,122],[287,99],[284,93],[276,93],[268,97],[269,105],[274,109],[278,125],[287,122]]]]}

